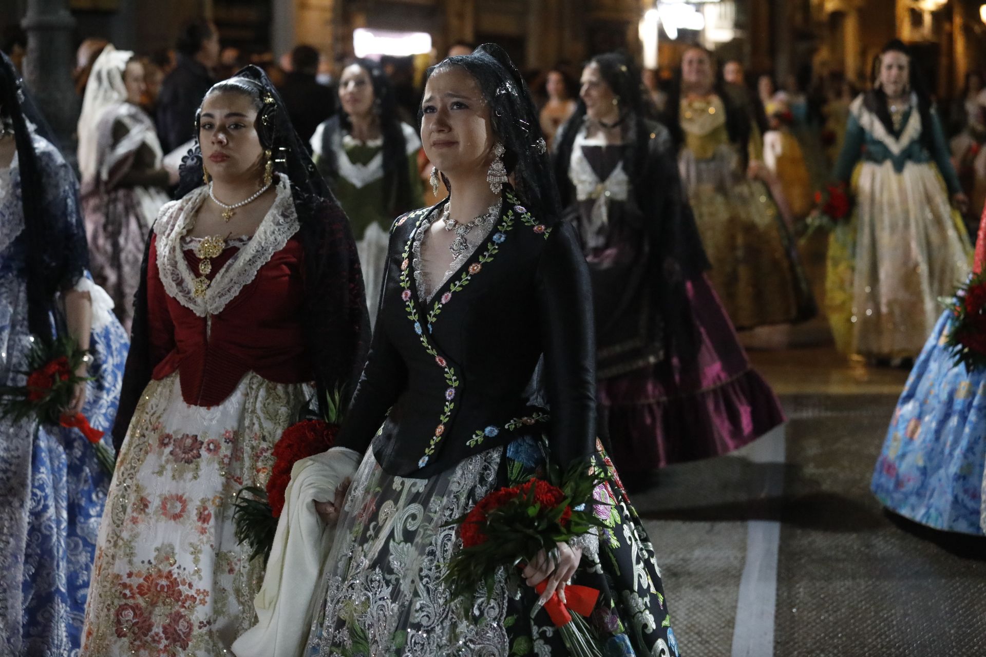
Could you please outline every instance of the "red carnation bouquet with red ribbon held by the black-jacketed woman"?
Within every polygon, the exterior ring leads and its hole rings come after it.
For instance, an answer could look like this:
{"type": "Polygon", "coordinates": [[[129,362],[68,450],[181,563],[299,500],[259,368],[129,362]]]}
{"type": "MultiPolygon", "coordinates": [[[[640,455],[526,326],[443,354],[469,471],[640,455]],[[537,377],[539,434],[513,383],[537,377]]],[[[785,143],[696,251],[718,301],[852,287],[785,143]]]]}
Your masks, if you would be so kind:
{"type": "MultiPolygon", "coordinates": [[[[558,560],[558,543],[566,543],[593,528],[603,527],[594,510],[593,492],[606,481],[599,469],[575,464],[564,479],[548,468],[550,481],[532,478],[525,484],[487,494],[471,511],[457,518],[462,548],[449,561],[445,580],[454,598],[470,601],[480,586],[490,595],[496,574],[506,566],[519,585],[520,569],[540,551],[558,560]]],[[[545,582],[535,587],[541,594],[545,582]]],[[[598,656],[594,632],[583,617],[596,606],[599,591],[570,584],[566,603],[555,593],[544,609],[573,657],[598,656]],[[574,613],[573,613],[574,612],[574,613]]]]}

